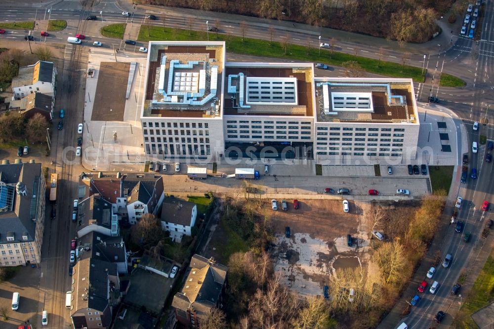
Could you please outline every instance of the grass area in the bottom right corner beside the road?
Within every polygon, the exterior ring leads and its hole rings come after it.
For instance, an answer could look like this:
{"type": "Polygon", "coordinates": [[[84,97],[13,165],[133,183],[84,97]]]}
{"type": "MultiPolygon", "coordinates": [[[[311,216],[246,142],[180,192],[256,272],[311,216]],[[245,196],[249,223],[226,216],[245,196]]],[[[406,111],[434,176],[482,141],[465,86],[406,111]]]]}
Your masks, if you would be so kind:
{"type": "Polygon", "coordinates": [[[494,300],[494,249],[491,250],[484,268],[479,273],[473,288],[458,312],[457,327],[477,328],[472,318],[473,313],[487,306],[494,300]]]}

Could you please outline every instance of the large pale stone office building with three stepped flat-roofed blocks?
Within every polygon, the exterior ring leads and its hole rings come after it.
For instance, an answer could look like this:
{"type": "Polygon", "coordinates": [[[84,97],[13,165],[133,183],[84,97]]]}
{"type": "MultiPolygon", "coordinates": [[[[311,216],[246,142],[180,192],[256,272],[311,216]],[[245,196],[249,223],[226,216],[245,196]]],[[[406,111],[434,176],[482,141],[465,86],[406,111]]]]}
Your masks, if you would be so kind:
{"type": "Polygon", "coordinates": [[[146,154],[207,162],[415,159],[411,79],[315,78],[312,63],[225,58],[224,42],[150,42],[146,154]]]}

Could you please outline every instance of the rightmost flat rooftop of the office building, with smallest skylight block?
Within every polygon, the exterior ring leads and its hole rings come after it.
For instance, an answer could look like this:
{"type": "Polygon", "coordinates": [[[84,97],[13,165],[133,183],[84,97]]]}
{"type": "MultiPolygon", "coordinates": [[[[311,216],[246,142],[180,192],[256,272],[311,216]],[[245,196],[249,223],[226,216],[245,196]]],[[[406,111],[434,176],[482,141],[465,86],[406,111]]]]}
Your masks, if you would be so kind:
{"type": "Polygon", "coordinates": [[[410,79],[315,79],[316,122],[418,123],[410,79]]]}

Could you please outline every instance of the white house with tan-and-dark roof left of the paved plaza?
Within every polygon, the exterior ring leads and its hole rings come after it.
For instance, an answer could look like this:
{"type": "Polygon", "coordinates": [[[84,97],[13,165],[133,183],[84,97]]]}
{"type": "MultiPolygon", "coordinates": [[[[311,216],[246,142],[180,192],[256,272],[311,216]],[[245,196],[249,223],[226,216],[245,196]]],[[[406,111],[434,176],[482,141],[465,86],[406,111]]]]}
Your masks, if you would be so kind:
{"type": "Polygon", "coordinates": [[[34,65],[19,68],[19,74],[12,79],[15,99],[21,99],[35,92],[54,97],[56,93],[57,68],[52,62],[39,61],[34,65]]]}

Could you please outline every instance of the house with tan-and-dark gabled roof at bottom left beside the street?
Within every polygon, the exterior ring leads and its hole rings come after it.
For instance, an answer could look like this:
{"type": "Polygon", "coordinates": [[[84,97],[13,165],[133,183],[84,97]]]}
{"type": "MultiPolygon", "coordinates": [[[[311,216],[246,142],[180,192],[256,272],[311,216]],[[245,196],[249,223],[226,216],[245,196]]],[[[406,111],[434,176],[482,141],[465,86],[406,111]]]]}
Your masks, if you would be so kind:
{"type": "Polygon", "coordinates": [[[113,307],[121,301],[117,264],[86,258],[72,276],[70,317],[74,328],[107,329],[113,307]]]}

